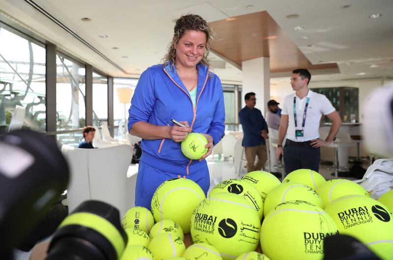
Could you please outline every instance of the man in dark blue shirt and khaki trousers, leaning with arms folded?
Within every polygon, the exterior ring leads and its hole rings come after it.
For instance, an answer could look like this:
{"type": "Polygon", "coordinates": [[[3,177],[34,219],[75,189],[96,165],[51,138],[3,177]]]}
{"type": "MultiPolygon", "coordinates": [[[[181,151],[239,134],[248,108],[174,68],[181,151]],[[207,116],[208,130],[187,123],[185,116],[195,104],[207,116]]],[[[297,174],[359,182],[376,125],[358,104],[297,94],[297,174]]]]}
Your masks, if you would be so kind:
{"type": "Polygon", "coordinates": [[[240,124],[243,127],[243,142],[247,159],[247,172],[262,169],[267,160],[266,142],[267,124],[259,109],[255,108],[255,93],[244,96],[246,106],[239,112],[240,124]],[[256,165],[255,156],[258,155],[256,165]]]}

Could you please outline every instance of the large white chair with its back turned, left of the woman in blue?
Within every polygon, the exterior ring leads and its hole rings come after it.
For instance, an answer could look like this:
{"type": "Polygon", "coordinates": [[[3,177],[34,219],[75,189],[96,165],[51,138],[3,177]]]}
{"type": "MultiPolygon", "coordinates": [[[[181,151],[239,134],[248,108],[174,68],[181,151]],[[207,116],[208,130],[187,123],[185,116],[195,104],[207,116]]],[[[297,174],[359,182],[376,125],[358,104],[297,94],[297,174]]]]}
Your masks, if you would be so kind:
{"type": "Polygon", "coordinates": [[[136,174],[127,178],[132,158],[129,145],[82,149],[64,144],[61,151],[71,173],[67,189],[70,213],[92,199],[111,204],[121,216],[134,206],[136,174]]]}

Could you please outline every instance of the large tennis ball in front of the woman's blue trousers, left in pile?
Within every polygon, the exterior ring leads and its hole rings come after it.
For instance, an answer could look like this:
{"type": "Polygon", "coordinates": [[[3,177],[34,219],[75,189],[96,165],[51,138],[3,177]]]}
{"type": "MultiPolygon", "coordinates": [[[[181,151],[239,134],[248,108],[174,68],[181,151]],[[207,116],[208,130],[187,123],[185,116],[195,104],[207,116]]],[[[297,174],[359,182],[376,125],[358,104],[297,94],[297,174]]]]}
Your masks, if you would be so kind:
{"type": "Polygon", "coordinates": [[[180,225],[184,234],[188,234],[191,215],[205,198],[205,193],[194,181],[185,178],[170,179],[154,192],[151,212],[156,222],[173,220],[180,225]]]}

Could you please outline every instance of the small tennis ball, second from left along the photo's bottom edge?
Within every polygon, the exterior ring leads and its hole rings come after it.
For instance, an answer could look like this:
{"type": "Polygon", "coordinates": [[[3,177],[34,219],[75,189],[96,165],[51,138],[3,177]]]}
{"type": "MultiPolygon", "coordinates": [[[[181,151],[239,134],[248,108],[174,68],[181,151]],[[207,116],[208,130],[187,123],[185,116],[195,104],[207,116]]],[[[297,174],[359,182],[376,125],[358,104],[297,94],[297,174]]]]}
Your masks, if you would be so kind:
{"type": "Polygon", "coordinates": [[[186,250],[186,246],[180,237],[173,233],[163,233],[151,239],[148,246],[150,252],[156,259],[168,259],[181,257],[186,250]]]}

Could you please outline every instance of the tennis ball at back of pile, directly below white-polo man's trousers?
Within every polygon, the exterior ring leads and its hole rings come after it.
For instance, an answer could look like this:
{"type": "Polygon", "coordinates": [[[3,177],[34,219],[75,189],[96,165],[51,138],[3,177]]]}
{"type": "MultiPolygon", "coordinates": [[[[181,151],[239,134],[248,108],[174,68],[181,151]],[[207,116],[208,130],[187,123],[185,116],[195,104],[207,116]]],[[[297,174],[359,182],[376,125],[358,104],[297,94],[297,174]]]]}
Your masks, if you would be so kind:
{"type": "Polygon", "coordinates": [[[282,183],[296,182],[309,186],[316,190],[319,186],[326,182],[325,178],[316,171],[310,169],[294,170],[285,176],[282,183]]]}

